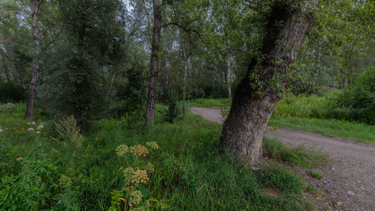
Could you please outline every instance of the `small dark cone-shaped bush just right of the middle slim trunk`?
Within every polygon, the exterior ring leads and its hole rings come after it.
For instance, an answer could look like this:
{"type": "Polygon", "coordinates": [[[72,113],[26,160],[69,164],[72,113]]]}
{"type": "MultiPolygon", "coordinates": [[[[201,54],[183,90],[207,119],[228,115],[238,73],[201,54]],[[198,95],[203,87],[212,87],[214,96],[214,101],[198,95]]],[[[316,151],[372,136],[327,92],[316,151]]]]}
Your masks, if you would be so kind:
{"type": "Polygon", "coordinates": [[[183,117],[185,114],[185,106],[183,102],[178,100],[178,94],[175,90],[169,92],[169,98],[166,101],[168,109],[164,109],[162,119],[167,122],[174,122],[175,119],[183,117]]]}

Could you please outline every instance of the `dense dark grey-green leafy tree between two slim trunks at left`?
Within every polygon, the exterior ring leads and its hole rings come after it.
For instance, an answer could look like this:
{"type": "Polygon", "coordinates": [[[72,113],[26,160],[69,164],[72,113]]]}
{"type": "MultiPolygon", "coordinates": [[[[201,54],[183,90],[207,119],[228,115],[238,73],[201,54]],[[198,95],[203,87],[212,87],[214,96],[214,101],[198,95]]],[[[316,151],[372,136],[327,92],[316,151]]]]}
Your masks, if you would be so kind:
{"type": "Polygon", "coordinates": [[[69,0],[59,12],[62,32],[44,54],[38,101],[51,115],[74,115],[86,126],[108,108],[114,70],[125,69],[126,8],[120,0],[69,0]]]}

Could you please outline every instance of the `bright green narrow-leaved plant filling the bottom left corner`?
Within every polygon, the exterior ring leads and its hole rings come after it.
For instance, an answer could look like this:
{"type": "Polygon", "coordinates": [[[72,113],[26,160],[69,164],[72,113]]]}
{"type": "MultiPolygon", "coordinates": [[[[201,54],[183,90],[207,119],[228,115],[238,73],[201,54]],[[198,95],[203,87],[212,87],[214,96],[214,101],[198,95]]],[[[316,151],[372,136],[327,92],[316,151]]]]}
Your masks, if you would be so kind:
{"type": "Polygon", "coordinates": [[[18,158],[21,169],[18,175],[4,176],[0,185],[1,209],[38,210],[55,191],[58,166],[45,153],[39,142],[24,158],[18,158]]]}

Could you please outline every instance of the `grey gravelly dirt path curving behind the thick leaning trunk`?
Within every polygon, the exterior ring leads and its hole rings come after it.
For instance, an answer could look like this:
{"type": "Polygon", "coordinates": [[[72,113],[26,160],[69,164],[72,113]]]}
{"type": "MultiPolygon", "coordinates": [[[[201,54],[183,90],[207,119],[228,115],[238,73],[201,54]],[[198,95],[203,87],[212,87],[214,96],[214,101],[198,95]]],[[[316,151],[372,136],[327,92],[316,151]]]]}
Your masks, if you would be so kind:
{"type": "MultiPolygon", "coordinates": [[[[192,107],[191,111],[219,124],[224,120],[220,108],[192,107]]],[[[265,136],[269,139],[276,137],[288,147],[297,147],[306,142],[317,144],[323,148],[322,152],[329,154],[332,159],[330,166],[315,169],[323,174],[323,179],[306,178],[327,195],[323,200],[318,199],[321,200],[321,210],[375,211],[375,144],[345,141],[339,137],[287,128],[268,131],[265,136]]]]}

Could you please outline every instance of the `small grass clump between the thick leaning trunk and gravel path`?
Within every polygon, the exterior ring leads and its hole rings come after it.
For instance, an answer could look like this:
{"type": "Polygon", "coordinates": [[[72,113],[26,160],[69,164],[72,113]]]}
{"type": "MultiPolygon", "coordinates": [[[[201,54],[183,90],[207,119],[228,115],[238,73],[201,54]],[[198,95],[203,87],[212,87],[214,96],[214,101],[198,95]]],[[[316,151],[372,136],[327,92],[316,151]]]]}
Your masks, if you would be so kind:
{"type": "Polygon", "coordinates": [[[321,149],[317,149],[317,145],[309,145],[303,143],[297,148],[288,148],[284,146],[276,138],[271,140],[263,138],[263,149],[273,158],[286,161],[290,164],[311,169],[320,164],[326,164],[328,155],[319,153],[321,149]]]}

